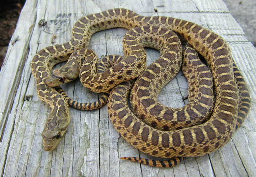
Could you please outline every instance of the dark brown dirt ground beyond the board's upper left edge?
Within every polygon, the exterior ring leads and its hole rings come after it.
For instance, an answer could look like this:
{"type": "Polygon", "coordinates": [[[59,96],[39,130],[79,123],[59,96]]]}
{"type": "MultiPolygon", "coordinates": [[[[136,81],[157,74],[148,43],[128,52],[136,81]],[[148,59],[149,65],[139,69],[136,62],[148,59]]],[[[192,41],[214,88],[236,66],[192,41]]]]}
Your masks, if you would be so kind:
{"type": "Polygon", "coordinates": [[[23,3],[21,2],[0,2],[0,68],[22,7],[23,3]]]}

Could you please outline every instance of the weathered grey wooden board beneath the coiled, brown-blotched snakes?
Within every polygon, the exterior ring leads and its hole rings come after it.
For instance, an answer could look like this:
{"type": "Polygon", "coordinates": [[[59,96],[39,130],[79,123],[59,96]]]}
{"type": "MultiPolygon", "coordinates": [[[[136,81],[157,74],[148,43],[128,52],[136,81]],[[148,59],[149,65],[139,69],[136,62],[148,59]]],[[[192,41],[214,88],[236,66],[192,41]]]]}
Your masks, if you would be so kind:
{"type": "MultiPolygon", "coordinates": [[[[91,38],[89,48],[99,57],[122,55],[126,29],[109,29],[91,38]]],[[[148,64],[159,52],[147,49],[148,64]]],[[[0,174],[1,176],[256,176],[256,50],[221,0],[27,0],[0,72],[0,174]],[[42,48],[70,39],[73,24],[82,16],[112,8],[126,8],[144,16],[171,16],[196,22],[220,34],[230,45],[251,94],[249,116],[230,142],[218,151],[186,157],[173,168],[155,168],[120,160],[122,156],[148,157],[117,133],[107,107],[94,111],[70,108],[71,122],[57,149],[46,152],[41,132],[50,112],[36,94],[30,63],[42,48]],[[157,12],[154,11],[157,10],[157,12]],[[41,19],[47,21],[40,27],[41,19]],[[53,39],[56,37],[55,39],[53,39]]],[[[64,86],[80,102],[95,101],[98,94],[77,79],[64,86]]],[[[159,95],[170,107],[186,102],[187,81],[179,72],[159,95]]]]}

